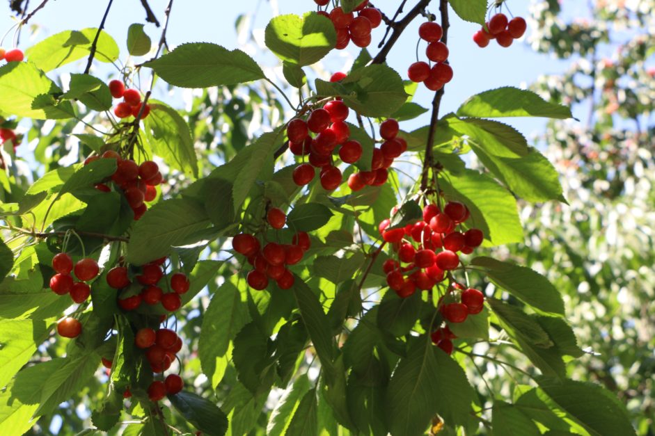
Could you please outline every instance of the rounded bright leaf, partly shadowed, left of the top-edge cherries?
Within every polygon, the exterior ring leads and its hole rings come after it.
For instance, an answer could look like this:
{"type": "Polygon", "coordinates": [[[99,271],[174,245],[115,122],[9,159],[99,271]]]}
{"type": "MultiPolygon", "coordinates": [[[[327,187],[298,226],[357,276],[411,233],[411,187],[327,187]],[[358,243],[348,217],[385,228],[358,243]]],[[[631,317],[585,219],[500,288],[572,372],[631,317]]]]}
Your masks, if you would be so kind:
{"type": "Polygon", "coordinates": [[[337,42],[329,18],[317,13],[278,15],[266,26],[265,43],[278,58],[305,66],[321,60],[337,42]]]}

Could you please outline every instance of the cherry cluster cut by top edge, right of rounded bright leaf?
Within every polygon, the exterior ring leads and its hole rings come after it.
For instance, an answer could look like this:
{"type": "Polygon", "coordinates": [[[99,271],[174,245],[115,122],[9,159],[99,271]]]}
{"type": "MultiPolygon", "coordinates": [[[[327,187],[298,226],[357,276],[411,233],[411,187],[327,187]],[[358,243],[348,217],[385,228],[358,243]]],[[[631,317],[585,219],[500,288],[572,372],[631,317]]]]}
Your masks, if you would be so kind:
{"type": "MultiPolygon", "coordinates": [[[[326,6],[330,0],[314,0],[318,6],[326,6]]],[[[339,50],[348,47],[350,41],[357,47],[368,47],[371,43],[371,31],[382,22],[382,14],[377,8],[368,7],[368,0],[362,1],[354,12],[345,13],[341,7],[334,8],[327,13],[319,10],[320,15],[331,19],[337,31],[337,45],[339,50]],[[357,13],[355,17],[354,12],[357,13]]]]}

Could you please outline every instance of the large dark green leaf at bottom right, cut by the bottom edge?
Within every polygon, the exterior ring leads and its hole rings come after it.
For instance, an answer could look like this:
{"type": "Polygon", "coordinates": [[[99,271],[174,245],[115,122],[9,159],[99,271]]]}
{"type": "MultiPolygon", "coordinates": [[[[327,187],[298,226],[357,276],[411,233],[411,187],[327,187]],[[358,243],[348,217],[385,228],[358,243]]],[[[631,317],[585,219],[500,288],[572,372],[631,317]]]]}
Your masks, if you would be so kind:
{"type": "Polygon", "coordinates": [[[599,385],[574,380],[537,380],[537,396],[553,410],[561,410],[590,435],[635,435],[625,406],[599,385]]]}

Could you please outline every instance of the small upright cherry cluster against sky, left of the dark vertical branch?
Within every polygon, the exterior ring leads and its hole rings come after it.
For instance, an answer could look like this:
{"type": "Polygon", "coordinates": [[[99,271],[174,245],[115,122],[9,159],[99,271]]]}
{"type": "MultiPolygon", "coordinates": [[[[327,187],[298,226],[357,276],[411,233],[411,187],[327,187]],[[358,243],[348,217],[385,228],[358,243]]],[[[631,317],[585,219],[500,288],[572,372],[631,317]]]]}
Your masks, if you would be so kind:
{"type": "Polygon", "coordinates": [[[429,60],[434,62],[430,67],[429,63],[419,60],[411,65],[407,70],[409,80],[421,83],[431,91],[438,91],[452,80],[452,67],[448,65],[448,46],[441,42],[443,29],[435,22],[425,22],[418,28],[418,35],[422,40],[428,42],[425,55],[429,60]]]}

